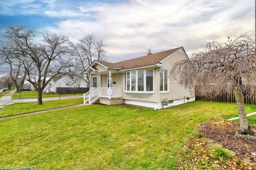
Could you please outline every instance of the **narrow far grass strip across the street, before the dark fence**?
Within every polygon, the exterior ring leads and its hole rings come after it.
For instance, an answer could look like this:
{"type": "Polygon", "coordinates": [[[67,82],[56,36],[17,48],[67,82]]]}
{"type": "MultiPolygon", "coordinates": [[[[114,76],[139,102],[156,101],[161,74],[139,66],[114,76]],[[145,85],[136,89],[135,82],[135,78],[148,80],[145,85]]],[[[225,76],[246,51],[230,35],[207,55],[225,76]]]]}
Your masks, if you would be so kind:
{"type": "MultiPolygon", "coordinates": [[[[78,96],[83,94],[75,94],[75,95],[60,95],[60,96],[78,96]]],[[[58,94],[42,94],[43,97],[59,97],[58,94]]],[[[21,91],[14,92],[12,95],[12,99],[26,99],[26,98],[37,98],[37,91],[21,91]]]]}

